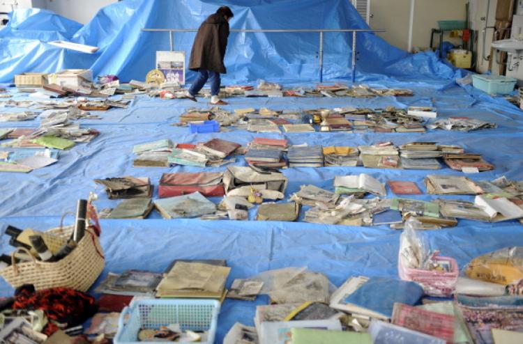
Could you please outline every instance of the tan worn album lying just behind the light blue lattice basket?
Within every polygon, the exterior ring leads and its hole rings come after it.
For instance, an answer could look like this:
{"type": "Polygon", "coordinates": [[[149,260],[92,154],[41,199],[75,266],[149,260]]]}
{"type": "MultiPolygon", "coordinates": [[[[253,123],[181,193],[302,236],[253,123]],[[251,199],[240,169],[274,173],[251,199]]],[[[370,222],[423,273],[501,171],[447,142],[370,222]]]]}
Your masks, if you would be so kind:
{"type": "Polygon", "coordinates": [[[225,264],[175,261],[158,284],[156,296],[223,299],[227,294],[225,282],[230,270],[225,264]]]}

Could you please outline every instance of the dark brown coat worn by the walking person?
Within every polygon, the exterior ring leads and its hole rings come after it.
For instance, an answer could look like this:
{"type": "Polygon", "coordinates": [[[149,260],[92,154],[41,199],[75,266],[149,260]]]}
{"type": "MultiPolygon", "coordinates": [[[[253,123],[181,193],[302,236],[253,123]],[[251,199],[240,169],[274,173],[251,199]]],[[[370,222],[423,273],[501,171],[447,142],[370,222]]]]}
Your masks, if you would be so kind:
{"type": "Polygon", "coordinates": [[[227,70],[223,64],[227,38],[229,37],[229,23],[222,15],[210,15],[199,26],[195,43],[190,52],[190,70],[203,68],[225,74],[227,70]]]}

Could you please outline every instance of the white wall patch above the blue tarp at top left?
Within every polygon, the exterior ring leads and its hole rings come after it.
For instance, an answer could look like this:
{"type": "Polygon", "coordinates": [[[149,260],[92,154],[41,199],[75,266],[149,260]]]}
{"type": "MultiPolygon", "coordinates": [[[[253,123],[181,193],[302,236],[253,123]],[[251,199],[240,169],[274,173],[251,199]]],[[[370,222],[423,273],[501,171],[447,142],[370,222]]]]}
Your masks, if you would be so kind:
{"type": "MultiPolygon", "coordinates": [[[[1,0],[0,0],[1,1],[1,0]]],[[[68,17],[82,24],[89,22],[94,15],[111,3],[117,0],[41,0],[43,6],[40,8],[47,8],[53,12],[68,17]]]]}

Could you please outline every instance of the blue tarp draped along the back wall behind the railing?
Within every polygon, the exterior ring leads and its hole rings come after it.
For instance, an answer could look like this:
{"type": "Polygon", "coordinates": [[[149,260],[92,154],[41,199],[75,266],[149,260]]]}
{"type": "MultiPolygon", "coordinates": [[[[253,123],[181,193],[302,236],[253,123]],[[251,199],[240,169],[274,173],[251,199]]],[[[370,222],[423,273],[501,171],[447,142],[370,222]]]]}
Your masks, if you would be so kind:
{"type": "MultiPolygon", "coordinates": [[[[199,1],[126,0],[107,6],[81,26],[47,10],[20,10],[0,30],[0,82],[20,72],[91,68],[96,75],[144,79],[157,50],[169,49],[168,33],[148,29],[197,29],[222,5],[231,6],[234,29],[368,29],[347,0],[199,1]],[[100,47],[82,54],[46,44],[52,40],[100,47]]],[[[175,33],[174,47],[188,54],[195,33],[175,33]]],[[[450,79],[455,70],[435,54],[409,55],[373,33],[358,33],[360,79],[434,77],[450,79]]],[[[324,77],[348,77],[351,34],[325,33],[324,77]]],[[[319,33],[231,33],[226,56],[229,81],[317,80],[319,33]]],[[[189,77],[192,73],[189,73],[189,77]]]]}

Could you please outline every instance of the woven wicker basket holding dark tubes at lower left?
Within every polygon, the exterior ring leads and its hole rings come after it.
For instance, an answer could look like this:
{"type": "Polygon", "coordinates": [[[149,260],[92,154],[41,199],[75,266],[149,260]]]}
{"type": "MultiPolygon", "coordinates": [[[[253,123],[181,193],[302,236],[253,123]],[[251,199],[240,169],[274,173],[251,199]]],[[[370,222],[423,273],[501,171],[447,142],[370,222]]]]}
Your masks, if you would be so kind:
{"type": "MultiPolygon", "coordinates": [[[[73,226],[54,228],[46,233],[68,238],[73,233],[73,226]]],[[[20,251],[29,253],[24,248],[16,249],[11,254],[12,265],[0,270],[0,276],[14,288],[33,284],[36,290],[64,287],[86,292],[105,265],[100,240],[91,228],[86,230],[77,247],[58,262],[44,263],[33,258],[32,262],[16,264],[15,254],[20,251]]]]}

